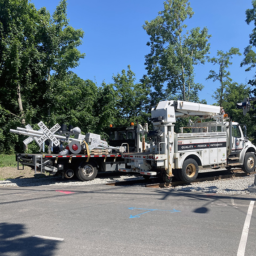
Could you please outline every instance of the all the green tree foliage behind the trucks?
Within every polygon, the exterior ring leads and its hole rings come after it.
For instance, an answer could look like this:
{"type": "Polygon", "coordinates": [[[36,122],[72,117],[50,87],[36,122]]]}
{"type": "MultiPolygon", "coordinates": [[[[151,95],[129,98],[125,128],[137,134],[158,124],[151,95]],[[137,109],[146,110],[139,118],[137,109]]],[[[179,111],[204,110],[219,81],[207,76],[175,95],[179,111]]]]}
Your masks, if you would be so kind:
{"type": "MultiPolygon", "coordinates": [[[[247,10],[248,24],[255,22],[256,0],[252,3],[253,9],[247,10]]],[[[150,109],[160,100],[206,103],[198,97],[203,85],[194,81],[194,66],[207,60],[210,35],[206,27],[186,31],[185,22],[193,14],[188,0],[166,0],[158,16],[143,26],[150,37],[150,53],[145,56],[147,75],[137,82],[128,65],[113,75],[112,83],[98,86],[70,71],[85,57],[77,49],[84,32],[69,25],[66,0],[60,0],[52,15],[46,8],[36,9],[29,0],[0,0],[0,153],[21,152],[25,137],[9,133],[9,129],[28,123],[34,129],[41,120],[49,127],[71,124],[83,133],[107,139],[110,124],[149,122],[150,109]]],[[[255,34],[253,30],[242,63],[250,68],[256,64],[252,51],[255,34]]],[[[227,69],[233,55],[239,55],[237,48],[218,51],[209,61],[219,70],[211,70],[208,79],[220,82],[214,98],[233,119],[248,124],[254,139],[255,109],[246,119],[235,109],[250,87],[230,78],[227,69]]],[[[250,83],[255,85],[254,80],[250,83]]],[[[177,132],[184,122],[177,120],[177,132]]]]}

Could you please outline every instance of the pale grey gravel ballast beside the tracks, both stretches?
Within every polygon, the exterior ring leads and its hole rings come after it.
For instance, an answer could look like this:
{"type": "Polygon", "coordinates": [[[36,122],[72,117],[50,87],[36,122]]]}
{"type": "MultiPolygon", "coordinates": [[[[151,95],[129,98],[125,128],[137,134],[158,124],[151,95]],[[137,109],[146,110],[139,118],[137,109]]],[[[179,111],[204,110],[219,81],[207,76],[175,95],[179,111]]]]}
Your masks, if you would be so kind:
{"type": "MultiPolygon", "coordinates": [[[[60,176],[47,176],[44,178],[23,178],[23,179],[8,179],[1,180],[0,187],[31,187],[31,186],[86,186],[92,184],[104,184],[115,181],[143,179],[138,175],[118,175],[110,177],[100,177],[91,181],[79,181],[76,179],[62,179],[60,176]]],[[[184,186],[176,186],[164,189],[173,189],[186,192],[206,192],[215,194],[228,195],[249,195],[248,187],[254,183],[255,175],[245,177],[235,177],[231,179],[221,179],[213,181],[203,181],[187,184],[184,186]]],[[[143,186],[143,184],[138,185],[143,186]]]]}

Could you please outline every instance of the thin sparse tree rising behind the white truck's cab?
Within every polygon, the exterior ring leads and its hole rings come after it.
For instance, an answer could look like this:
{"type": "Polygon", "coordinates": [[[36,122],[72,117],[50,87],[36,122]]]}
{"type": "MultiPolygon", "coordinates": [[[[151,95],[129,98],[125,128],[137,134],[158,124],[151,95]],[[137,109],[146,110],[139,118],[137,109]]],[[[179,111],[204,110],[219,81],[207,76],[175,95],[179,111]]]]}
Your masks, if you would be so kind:
{"type": "Polygon", "coordinates": [[[233,58],[233,55],[241,55],[238,48],[231,47],[230,50],[226,53],[223,51],[217,51],[217,57],[209,59],[209,62],[218,66],[218,72],[210,70],[210,74],[206,80],[212,79],[213,82],[220,82],[220,87],[214,92],[213,98],[217,100],[218,105],[221,107],[225,103],[225,95],[227,93],[227,89],[232,83],[230,72],[227,71],[227,69],[230,65],[232,65],[230,60],[233,58]]]}

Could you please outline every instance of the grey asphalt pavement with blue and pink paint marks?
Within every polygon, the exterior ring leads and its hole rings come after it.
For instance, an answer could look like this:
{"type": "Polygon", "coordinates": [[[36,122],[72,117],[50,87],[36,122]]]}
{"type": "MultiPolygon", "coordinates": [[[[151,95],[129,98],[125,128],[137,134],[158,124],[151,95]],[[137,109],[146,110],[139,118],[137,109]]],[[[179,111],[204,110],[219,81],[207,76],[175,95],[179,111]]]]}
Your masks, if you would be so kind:
{"type": "Polygon", "coordinates": [[[0,188],[1,256],[254,256],[256,196],[141,186],[0,188]]]}

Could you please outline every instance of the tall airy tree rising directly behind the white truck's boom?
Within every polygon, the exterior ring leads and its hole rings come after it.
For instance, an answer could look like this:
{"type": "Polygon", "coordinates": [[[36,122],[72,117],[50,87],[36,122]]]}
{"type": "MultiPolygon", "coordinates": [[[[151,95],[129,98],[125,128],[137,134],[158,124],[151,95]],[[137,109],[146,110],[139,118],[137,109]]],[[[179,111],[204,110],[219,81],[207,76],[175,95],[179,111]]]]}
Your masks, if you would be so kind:
{"type": "Polygon", "coordinates": [[[154,103],[166,98],[199,101],[203,85],[194,82],[194,65],[205,63],[210,35],[206,27],[184,31],[184,21],[193,14],[188,0],[167,0],[154,20],[145,21],[151,50],[145,65],[154,88],[154,103]]]}

